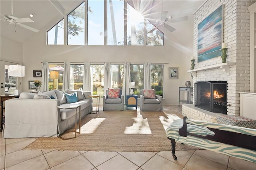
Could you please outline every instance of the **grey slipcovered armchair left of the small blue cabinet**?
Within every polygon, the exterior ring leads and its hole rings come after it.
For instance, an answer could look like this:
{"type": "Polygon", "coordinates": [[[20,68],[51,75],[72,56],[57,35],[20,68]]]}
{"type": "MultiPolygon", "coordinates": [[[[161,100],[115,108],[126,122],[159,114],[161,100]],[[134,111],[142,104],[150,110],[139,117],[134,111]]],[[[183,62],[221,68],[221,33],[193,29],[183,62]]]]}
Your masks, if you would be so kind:
{"type": "Polygon", "coordinates": [[[110,98],[106,90],[106,95],[103,96],[103,111],[123,111],[124,110],[124,96],[120,89],[120,95],[118,98],[110,98]]]}

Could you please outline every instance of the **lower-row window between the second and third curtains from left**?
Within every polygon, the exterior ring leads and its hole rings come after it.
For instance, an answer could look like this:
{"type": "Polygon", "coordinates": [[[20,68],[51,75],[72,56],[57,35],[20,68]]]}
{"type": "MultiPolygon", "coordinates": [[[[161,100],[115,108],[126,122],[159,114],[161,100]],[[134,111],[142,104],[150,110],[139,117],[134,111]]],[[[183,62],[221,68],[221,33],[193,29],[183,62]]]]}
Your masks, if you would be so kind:
{"type": "Polygon", "coordinates": [[[83,88],[84,65],[71,64],[70,65],[70,88],[79,89],[83,88]]]}

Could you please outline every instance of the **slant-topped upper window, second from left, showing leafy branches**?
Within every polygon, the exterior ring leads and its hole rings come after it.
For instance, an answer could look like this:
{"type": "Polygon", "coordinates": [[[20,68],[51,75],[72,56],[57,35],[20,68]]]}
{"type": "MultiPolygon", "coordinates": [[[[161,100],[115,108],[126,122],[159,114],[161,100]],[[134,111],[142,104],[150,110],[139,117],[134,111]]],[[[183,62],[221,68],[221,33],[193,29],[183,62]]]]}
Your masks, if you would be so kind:
{"type": "Polygon", "coordinates": [[[68,14],[68,44],[84,45],[84,2],[68,14]]]}

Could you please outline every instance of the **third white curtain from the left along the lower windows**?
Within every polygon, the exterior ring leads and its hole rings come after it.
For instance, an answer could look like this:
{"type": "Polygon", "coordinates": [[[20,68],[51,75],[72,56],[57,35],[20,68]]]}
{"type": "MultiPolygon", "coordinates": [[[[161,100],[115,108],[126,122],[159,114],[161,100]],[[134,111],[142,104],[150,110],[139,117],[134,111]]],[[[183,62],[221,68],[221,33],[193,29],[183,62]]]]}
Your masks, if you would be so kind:
{"type": "Polygon", "coordinates": [[[83,90],[84,91],[92,91],[91,84],[91,63],[84,63],[84,78],[83,78],[83,90]]]}

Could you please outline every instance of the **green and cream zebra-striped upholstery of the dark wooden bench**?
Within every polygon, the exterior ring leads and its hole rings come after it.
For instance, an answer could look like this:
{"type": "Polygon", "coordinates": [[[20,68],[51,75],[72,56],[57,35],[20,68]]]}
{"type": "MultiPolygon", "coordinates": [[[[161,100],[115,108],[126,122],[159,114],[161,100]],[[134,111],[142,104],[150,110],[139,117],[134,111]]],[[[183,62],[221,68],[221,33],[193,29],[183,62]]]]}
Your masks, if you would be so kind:
{"type": "MultiPolygon", "coordinates": [[[[186,119],[187,131],[193,134],[199,134],[202,136],[214,135],[214,132],[209,130],[209,128],[216,128],[220,130],[226,130],[230,132],[237,132],[242,134],[247,134],[251,136],[256,136],[256,129],[235,127],[230,125],[221,125],[218,123],[204,122],[192,119],[186,119]],[[196,125],[196,126],[195,126],[196,125]]],[[[188,135],[187,137],[179,136],[179,128],[183,126],[183,120],[175,120],[168,128],[166,128],[166,135],[169,138],[192,146],[197,146],[207,150],[212,150],[221,154],[226,154],[228,156],[233,156],[243,160],[248,160],[250,162],[256,163],[256,151],[246,148],[241,148],[238,146],[232,146],[230,144],[224,144],[220,142],[215,142],[212,140],[207,140],[203,138],[198,138],[195,136],[188,135]]]]}

